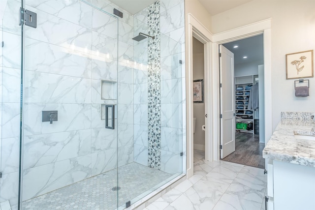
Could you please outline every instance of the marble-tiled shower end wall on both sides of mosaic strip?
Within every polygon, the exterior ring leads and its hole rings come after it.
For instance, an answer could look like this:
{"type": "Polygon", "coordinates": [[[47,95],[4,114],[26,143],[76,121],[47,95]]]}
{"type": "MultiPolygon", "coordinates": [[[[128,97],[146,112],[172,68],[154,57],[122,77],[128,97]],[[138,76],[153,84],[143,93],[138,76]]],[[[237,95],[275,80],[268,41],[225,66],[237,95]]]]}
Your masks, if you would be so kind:
{"type": "MultiPolygon", "coordinates": [[[[145,8],[134,15],[134,35],[147,33],[147,24],[148,8],[145,8]]],[[[160,0],[160,31],[161,170],[174,174],[186,171],[184,0],[160,0]]],[[[138,92],[134,96],[134,160],[143,165],[148,165],[147,46],[147,39],[134,45],[134,59],[139,63],[138,69],[134,69],[135,90],[139,88],[143,93],[141,101],[136,101],[138,92]]]]}

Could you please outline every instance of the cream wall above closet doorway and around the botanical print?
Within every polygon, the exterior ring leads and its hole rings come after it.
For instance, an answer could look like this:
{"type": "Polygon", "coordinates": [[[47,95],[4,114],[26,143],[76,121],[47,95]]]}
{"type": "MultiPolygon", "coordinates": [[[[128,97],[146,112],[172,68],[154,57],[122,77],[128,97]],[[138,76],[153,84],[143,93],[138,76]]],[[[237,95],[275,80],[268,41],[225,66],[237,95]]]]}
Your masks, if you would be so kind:
{"type": "Polygon", "coordinates": [[[285,54],[315,50],[314,0],[255,0],[212,16],[212,32],[218,33],[272,18],[271,69],[273,129],[281,111],[315,111],[315,78],[310,78],[310,96],[294,96],[294,80],[286,80],[285,54]],[[313,85],[312,85],[313,84],[313,85]]]}

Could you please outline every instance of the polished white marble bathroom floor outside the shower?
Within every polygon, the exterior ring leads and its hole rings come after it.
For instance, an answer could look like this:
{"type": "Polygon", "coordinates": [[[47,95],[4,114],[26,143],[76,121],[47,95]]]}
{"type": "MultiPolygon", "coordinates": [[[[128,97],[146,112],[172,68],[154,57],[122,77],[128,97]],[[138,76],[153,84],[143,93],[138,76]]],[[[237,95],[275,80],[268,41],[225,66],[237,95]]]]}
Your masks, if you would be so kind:
{"type": "Polygon", "coordinates": [[[265,210],[267,176],[263,169],[204,160],[194,150],[194,175],[153,202],[149,210],[265,210]],[[182,193],[182,194],[181,194],[182,193]],[[165,206],[169,204],[168,206],[165,206]]]}

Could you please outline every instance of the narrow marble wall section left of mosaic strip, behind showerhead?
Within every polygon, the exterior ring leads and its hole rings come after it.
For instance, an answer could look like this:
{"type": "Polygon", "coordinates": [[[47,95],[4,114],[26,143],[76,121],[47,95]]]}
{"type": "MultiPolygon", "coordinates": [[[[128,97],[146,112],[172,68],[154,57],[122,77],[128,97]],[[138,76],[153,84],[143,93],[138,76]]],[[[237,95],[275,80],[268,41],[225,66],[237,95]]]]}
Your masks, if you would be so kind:
{"type": "MultiPolygon", "coordinates": [[[[148,34],[148,10],[134,15],[134,34],[148,34]]],[[[148,38],[134,43],[134,161],[148,166],[148,38]]]]}

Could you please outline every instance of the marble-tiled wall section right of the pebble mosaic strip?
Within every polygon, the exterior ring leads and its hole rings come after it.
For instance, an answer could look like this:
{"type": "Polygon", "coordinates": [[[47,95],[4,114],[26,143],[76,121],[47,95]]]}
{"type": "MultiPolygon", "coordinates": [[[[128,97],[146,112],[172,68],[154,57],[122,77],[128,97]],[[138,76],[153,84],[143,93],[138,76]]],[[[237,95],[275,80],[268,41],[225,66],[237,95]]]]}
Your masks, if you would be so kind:
{"type": "Polygon", "coordinates": [[[184,0],[160,0],[160,4],[161,170],[186,173],[184,0]]]}

